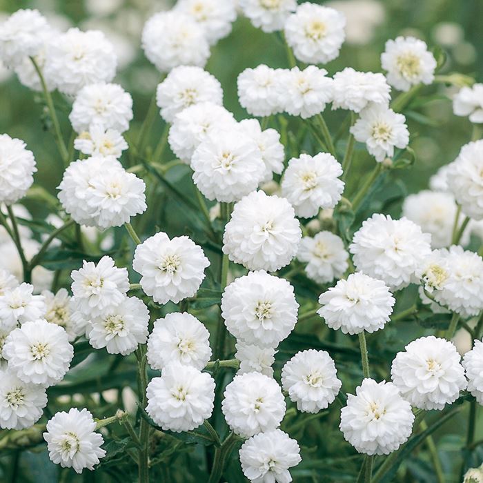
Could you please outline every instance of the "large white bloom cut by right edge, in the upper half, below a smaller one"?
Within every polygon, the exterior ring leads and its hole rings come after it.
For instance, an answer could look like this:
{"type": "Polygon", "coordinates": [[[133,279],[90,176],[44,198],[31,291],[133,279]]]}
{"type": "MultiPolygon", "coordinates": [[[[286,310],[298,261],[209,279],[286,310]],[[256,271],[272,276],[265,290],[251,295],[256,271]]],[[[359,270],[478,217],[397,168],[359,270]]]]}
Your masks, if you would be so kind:
{"type": "Polygon", "coordinates": [[[483,139],[461,148],[447,177],[462,212],[475,220],[483,219],[483,139]]]}

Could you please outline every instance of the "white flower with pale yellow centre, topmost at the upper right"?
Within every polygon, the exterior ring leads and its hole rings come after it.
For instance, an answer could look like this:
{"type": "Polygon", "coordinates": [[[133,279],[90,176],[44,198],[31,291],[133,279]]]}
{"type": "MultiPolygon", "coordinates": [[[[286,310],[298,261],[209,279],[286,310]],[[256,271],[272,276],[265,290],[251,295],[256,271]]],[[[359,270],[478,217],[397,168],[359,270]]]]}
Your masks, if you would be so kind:
{"type": "Polygon", "coordinates": [[[419,83],[431,84],[434,80],[436,60],[426,43],[414,37],[388,40],[381,64],[387,70],[388,83],[399,90],[409,90],[419,83]]]}

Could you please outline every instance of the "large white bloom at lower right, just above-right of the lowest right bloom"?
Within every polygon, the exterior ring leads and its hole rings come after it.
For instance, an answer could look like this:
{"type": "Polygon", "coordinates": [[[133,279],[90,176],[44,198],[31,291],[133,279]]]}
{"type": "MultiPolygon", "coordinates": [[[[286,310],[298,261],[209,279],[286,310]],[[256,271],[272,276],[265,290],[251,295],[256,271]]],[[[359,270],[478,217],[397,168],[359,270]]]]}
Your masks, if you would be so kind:
{"type": "Polygon", "coordinates": [[[442,410],[466,388],[461,356],[455,344],[434,335],[413,340],[398,352],[391,378],[402,397],[420,409],[442,410]]]}

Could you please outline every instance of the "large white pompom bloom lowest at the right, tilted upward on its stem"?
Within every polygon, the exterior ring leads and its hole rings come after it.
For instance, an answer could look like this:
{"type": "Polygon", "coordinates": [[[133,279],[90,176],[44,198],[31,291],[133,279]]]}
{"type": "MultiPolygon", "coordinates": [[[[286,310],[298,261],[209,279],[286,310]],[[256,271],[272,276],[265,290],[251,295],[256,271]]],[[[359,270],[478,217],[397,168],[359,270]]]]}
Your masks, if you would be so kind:
{"type": "Polygon", "coordinates": [[[388,455],[408,440],[413,422],[411,405],[392,382],[364,379],[348,395],[339,427],[359,453],[388,455]]]}

